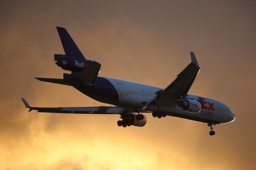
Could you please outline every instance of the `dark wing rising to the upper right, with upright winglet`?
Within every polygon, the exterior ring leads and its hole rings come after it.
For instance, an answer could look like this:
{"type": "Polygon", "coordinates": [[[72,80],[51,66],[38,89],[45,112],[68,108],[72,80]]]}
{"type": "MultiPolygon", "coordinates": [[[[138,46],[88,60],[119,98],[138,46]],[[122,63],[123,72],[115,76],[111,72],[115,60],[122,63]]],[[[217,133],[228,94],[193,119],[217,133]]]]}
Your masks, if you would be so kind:
{"type": "Polygon", "coordinates": [[[158,91],[156,96],[145,103],[144,108],[148,105],[158,105],[159,107],[168,107],[176,105],[178,99],[185,98],[192,83],[200,70],[193,52],[190,52],[190,64],[177,75],[177,78],[166,89],[158,91]]]}

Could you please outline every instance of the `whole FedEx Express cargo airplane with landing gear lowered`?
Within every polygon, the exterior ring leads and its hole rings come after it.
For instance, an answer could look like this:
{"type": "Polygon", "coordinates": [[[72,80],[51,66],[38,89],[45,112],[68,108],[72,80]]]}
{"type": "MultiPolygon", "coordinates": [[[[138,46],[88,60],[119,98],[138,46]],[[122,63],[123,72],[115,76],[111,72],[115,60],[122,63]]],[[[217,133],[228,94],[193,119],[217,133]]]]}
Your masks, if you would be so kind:
{"type": "Polygon", "coordinates": [[[84,95],[110,106],[30,107],[22,98],[29,112],[36,110],[44,113],[118,114],[121,119],[117,121],[119,127],[144,127],[147,119],[142,113],[152,114],[158,118],[172,116],[207,123],[210,127],[210,136],[215,135],[212,125],[235,120],[234,112],[224,103],[188,94],[200,70],[194,52],[190,52],[191,61],[188,66],[164,89],[121,79],[99,77],[100,62],[86,59],[67,30],[56,28],[65,55],[54,54],[54,61],[62,69],[71,71],[71,74],[64,73],[63,79],[35,78],[39,81],[72,86],[84,95]]]}

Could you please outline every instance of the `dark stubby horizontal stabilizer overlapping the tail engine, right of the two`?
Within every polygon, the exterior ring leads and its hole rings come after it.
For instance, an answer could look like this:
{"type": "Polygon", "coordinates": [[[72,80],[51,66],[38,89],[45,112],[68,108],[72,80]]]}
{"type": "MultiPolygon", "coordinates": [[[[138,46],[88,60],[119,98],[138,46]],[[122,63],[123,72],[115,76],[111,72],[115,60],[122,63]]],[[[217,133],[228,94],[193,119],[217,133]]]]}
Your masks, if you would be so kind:
{"type": "Polygon", "coordinates": [[[93,61],[88,67],[85,67],[74,79],[93,85],[100,71],[101,64],[93,61]]]}

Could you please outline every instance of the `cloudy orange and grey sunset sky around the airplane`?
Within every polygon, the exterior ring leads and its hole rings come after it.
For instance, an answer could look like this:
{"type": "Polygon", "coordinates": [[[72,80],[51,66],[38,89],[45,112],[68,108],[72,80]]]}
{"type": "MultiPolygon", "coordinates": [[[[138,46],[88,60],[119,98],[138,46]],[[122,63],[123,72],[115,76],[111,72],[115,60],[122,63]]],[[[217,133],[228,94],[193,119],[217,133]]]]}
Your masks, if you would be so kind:
{"type": "Polygon", "coordinates": [[[0,169],[255,169],[254,1],[0,1],[0,169]],[[217,125],[146,115],[122,128],[118,115],[49,114],[24,108],[106,105],[62,78],[65,27],[99,76],[166,87],[194,51],[201,70],[189,93],[226,103],[236,120],[217,125]]]}

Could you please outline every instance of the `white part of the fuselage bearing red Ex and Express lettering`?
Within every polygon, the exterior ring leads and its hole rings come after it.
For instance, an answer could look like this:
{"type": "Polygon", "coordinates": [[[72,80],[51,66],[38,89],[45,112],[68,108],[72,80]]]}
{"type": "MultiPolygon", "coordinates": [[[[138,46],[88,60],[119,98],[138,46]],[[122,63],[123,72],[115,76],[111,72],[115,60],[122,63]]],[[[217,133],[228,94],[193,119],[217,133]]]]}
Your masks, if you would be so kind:
{"type": "MultiPolygon", "coordinates": [[[[106,78],[106,77],[105,77],[106,78]]],[[[118,92],[119,101],[114,105],[127,107],[134,109],[134,111],[142,110],[145,102],[149,101],[156,96],[156,92],[163,90],[160,87],[154,87],[150,85],[134,83],[131,81],[125,81],[120,79],[106,78],[114,85],[118,92]]],[[[162,111],[165,111],[167,115],[180,117],[184,119],[204,122],[204,123],[228,123],[234,121],[235,115],[231,109],[224,103],[210,99],[208,97],[202,97],[197,95],[188,94],[187,99],[200,101],[202,109],[199,113],[190,113],[184,111],[178,105],[172,107],[163,107],[162,111]]],[[[156,111],[157,107],[146,107],[145,111],[156,111]]]]}

